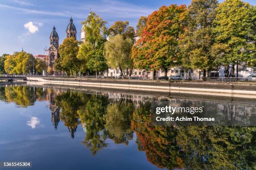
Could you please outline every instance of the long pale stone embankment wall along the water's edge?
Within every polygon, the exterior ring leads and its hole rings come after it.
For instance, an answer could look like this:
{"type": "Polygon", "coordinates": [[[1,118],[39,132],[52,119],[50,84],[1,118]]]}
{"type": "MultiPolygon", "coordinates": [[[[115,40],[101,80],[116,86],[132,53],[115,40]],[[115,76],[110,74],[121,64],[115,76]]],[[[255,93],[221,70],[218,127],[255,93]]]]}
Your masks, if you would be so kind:
{"type": "MultiPolygon", "coordinates": [[[[207,95],[240,95],[256,98],[255,83],[214,83],[214,82],[169,82],[161,80],[92,80],[78,78],[27,77],[27,80],[42,84],[79,85],[101,88],[146,90],[154,92],[179,92],[207,95]]],[[[234,96],[236,97],[236,96],[234,96]]]]}

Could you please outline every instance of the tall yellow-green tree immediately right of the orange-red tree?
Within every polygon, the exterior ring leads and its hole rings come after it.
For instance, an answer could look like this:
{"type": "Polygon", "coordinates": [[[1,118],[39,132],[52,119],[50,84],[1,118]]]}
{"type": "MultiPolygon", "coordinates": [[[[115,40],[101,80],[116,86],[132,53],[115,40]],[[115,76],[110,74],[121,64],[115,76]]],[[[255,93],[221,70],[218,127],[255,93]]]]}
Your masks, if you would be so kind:
{"type": "Polygon", "coordinates": [[[212,22],[217,5],[217,0],[192,0],[186,12],[187,29],[179,43],[182,66],[187,70],[199,68],[204,77],[213,63],[210,49],[214,42],[212,22]]]}

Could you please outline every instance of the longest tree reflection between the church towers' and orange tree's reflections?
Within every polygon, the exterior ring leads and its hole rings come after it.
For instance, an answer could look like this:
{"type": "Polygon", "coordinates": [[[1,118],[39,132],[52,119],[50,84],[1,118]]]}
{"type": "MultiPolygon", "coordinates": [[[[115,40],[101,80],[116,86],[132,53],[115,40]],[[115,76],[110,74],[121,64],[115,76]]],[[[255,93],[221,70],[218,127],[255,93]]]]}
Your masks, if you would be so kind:
{"type": "Polygon", "coordinates": [[[90,100],[78,110],[82,125],[86,126],[84,145],[92,151],[92,155],[107,147],[104,115],[108,106],[108,97],[91,95],[90,100]]]}

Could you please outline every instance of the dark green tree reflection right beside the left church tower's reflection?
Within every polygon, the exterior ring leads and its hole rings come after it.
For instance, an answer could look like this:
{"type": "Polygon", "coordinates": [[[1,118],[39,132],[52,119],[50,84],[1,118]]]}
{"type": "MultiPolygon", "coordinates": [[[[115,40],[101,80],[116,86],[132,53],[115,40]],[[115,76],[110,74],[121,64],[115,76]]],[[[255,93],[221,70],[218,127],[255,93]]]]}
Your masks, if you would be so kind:
{"type": "Polygon", "coordinates": [[[60,118],[64,125],[68,127],[71,137],[74,138],[74,133],[80,123],[77,110],[84,104],[82,94],[68,91],[57,96],[56,101],[56,105],[61,107],[60,118]]]}

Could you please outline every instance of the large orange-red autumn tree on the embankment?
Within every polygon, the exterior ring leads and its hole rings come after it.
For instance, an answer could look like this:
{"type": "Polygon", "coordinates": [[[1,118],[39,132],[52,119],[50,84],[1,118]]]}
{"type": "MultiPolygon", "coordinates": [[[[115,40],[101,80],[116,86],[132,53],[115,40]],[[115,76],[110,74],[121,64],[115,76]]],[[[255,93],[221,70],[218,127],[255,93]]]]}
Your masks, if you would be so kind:
{"type": "Polygon", "coordinates": [[[167,70],[178,65],[178,41],[184,32],[186,5],[162,6],[148,16],[141,38],[133,46],[137,68],[167,70]]]}

